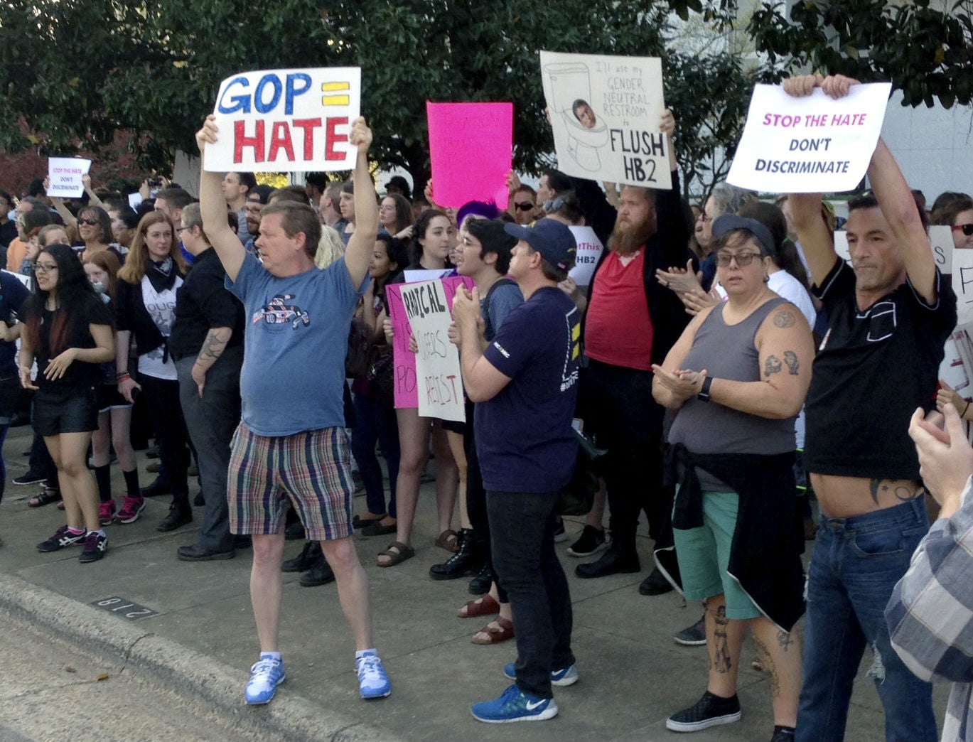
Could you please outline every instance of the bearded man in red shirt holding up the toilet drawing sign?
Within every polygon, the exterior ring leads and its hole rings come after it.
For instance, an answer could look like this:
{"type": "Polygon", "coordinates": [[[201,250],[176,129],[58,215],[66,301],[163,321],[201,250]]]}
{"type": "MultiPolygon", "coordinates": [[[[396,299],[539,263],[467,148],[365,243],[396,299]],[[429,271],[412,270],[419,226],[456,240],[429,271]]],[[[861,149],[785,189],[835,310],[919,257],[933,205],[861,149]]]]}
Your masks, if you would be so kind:
{"type": "MultiPolygon", "coordinates": [[[[652,366],[662,363],[689,317],[655,273],[658,267],[686,265],[689,226],[679,198],[670,111],[663,114],[661,130],[668,140],[672,187],[622,189],[608,249],[589,289],[584,333],[588,369],[581,394],[585,432],[594,432],[596,444],[608,449],[603,476],[612,546],[597,561],[578,565],[575,574],[580,578],[641,569],[635,548],[641,511],[649,518],[656,548],[672,544],[672,489],[663,486],[665,410],[652,399],[652,366]]],[[[669,588],[658,570],[645,582],[653,593],[669,588]]]]}

